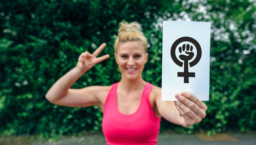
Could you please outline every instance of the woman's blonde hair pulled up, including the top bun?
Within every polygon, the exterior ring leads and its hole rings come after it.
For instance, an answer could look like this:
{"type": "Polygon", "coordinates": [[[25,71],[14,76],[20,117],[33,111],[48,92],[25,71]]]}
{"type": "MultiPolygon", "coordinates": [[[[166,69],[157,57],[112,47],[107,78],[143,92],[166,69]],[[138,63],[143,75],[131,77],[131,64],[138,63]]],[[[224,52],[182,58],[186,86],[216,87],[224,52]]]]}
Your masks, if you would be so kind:
{"type": "Polygon", "coordinates": [[[128,23],[126,21],[119,23],[118,38],[115,41],[114,48],[117,53],[119,43],[127,41],[141,41],[145,53],[147,52],[147,39],[143,35],[141,25],[138,22],[128,23]]]}

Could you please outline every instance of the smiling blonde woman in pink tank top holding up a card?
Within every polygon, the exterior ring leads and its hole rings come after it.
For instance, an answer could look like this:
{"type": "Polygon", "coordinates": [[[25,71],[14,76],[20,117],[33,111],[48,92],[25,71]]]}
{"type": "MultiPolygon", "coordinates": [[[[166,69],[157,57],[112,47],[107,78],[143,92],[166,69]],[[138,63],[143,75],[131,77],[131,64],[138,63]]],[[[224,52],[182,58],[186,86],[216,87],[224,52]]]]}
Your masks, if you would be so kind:
{"type": "MultiPolygon", "coordinates": [[[[162,101],[161,88],[142,79],[147,62],[147,40],[139,23],[120,23],[115,41],[115,60],[121,80],[111,86],[70,87],[95,64],[109,58],[98,57],[105,43],[93,53],[82,53],[75,68],[48,91],[53,104],[70,107],[97,105],[103,112],[102,130],[107,144],[156,144],[161,117],[183,127],[201,122],[206,105],[189,92],[177,93],[179,102],[162,101]]],[[[172,82],[173,83],[173,82],[172,82]]]]}

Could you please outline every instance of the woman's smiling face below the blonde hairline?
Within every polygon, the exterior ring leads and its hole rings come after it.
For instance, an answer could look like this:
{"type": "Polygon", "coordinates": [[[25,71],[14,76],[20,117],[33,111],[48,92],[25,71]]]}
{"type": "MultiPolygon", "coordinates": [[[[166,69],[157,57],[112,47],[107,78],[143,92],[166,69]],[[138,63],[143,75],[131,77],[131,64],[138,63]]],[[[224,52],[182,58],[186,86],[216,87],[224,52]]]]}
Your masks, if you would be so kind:
{"type": "Polygon", "coordinates": [[[147,56],[141,41],[119,43],[115,59],[121,71],[122,79],[142,79],[142,71],[147,56]]]}

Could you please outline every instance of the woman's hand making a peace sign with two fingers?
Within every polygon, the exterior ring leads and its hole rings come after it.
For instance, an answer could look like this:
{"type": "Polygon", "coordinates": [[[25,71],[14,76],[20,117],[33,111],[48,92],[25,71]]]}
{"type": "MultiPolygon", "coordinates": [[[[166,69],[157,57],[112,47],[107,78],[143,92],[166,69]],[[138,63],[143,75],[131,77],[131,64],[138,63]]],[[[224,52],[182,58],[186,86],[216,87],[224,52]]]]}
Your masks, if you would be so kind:
{"type": "Polygon", "coordinates": [[[105,46],[106,46],[106,43],[103,43],[98,47],[98,49],[93,54],[90,54],[89,52],[86,51],[79,56],[76,67],[78,68],[79,73],[81,75],[84,74],[84,72],[91,69],[95,64],[105,59],[108,59],[110,57],[110,55],[104,55],[96,58],[99,55],[99,53],[104,49],[105,46]]]}

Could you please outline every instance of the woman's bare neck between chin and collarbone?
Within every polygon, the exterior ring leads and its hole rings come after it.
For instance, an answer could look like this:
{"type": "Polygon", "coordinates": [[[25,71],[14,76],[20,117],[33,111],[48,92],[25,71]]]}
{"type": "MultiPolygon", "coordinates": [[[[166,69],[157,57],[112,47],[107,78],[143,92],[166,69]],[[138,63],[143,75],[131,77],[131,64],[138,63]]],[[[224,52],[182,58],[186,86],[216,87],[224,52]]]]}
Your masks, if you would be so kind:
{"type": "Polygon", "coordinates": [[[125,90],[127,92],[144,88],[145,85],[146,85],[146,82],[142,78],[134,79],[134,80],[122,78],[121,81],[119,82],[119,87],[122,90],[125,90]]]}

